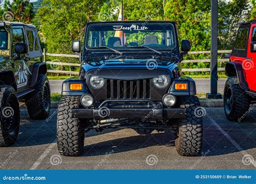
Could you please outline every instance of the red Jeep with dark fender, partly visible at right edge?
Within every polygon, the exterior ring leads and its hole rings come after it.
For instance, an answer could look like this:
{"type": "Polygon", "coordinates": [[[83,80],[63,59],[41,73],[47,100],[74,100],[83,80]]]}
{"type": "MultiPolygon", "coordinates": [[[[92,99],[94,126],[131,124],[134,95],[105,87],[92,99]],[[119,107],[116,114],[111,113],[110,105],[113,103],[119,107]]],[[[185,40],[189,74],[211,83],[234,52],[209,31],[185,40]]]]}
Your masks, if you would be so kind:
{"type": "Polygon", "coordinates": [[[256,20],[240,25],[225,73],[225,113],[229,120],[240,122],[256,100],[256,20]]]}

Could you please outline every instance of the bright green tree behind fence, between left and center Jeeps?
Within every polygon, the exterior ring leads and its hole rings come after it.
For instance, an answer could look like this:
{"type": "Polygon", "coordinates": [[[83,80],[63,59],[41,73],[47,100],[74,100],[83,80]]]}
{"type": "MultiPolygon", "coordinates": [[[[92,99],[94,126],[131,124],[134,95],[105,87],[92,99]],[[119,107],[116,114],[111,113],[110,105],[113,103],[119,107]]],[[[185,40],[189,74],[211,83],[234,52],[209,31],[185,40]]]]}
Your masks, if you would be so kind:
{"type": "Polygon", "coordinates": [[[71,53],[71,42],[83,36],[83,27],[98,19],[101,0],[44,0],[37,11],[48,52],[71,53]]]}

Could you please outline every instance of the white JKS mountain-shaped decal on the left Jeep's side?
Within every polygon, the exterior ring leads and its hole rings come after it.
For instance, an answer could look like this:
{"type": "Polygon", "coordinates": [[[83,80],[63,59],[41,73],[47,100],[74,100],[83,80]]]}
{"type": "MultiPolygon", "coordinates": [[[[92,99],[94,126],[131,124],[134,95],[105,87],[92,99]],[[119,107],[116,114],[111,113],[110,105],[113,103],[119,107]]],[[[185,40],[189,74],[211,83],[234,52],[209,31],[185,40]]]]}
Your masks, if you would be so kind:
{"type": "Polygon", "coordinates": [[[17,79],[17,87],[21,88],[23,86],[26,86],[28,84],[28,75],[32,75],[28,65],[23,61],[22,65],[19,65],[15,74],[15,76],[18,76],[17,79]]]}

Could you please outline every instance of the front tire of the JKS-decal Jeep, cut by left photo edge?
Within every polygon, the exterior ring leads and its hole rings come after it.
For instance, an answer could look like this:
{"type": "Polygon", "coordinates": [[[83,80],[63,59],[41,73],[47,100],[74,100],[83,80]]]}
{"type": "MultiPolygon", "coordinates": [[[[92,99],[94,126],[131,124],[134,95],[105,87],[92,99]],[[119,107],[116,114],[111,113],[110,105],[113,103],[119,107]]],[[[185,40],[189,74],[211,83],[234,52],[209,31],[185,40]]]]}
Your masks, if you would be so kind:
{"type": "Polygon", "coordinates": [[[0,147],[15,143],[19,132],[19,103],[11,86],[0,86],[0,147]]]}

